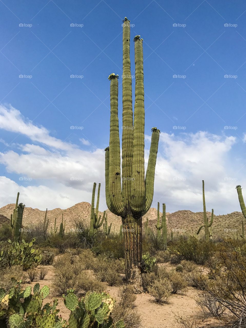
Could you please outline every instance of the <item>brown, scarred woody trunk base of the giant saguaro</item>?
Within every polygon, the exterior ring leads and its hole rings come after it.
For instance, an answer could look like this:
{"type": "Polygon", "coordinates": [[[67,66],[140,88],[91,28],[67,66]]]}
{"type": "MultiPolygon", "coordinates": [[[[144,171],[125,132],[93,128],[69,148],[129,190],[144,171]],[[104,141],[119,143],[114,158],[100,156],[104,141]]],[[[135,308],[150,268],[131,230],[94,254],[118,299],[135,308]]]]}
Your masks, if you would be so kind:
{"type": "Polygon", "coordinates": [[[127,215],[122,219],[122,231],[125,250],[125,275],[136,294],[141,294],[142,284],[142,217],[134,219],[127,215]]]}

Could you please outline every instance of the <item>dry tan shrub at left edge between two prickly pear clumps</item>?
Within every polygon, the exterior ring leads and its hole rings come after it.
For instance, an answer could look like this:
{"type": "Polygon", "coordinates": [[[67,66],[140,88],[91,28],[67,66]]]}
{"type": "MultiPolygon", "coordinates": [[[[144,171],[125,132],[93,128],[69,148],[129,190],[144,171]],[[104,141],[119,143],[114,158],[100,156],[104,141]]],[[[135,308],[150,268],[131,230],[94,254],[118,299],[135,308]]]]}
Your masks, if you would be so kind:
{"type": "Polygon", "coordinates": [[[22,270],[21,265],[13,265],[11,268],[5,268],[0,270],[0,288],[3,288],[6,290],[6,292],[9,292],[10,288],[13,286],[13,282],[11,281],[11,278],[15,278],[16,280],[22,280],[23,282],[26,282],[27,275],[22,270]]]}

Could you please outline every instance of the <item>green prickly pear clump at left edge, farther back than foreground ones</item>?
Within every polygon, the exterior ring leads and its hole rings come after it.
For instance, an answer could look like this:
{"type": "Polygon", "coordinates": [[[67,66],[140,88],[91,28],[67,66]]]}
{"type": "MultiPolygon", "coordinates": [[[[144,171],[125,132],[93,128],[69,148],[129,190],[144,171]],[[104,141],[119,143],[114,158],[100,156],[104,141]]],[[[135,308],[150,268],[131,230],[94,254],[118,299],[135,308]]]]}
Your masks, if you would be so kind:
{"type": "Polygon", "coordinates": [[[28,243],[22,239],[22,242],[15,243],[8,240],[0,250],[0,268],[21,265],[25,271],[37,267],[42,260],[42,255],[39,250],[33,248],[34,241],[35,239],[32,239],[28,243]]]}

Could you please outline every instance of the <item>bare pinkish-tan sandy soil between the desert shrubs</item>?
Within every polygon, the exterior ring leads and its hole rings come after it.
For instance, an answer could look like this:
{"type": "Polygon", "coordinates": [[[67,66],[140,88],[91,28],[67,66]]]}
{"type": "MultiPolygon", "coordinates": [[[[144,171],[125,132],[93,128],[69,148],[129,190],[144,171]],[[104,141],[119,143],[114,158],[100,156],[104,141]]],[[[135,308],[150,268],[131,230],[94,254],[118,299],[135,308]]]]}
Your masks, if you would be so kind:
{"type": "MultiPolygon", "coordinates": [[[[165,263],[165,267],[168,269],[173,266],[165,263]]],[[[54,271],[52,265],[39,266],[38,268],[43,267],[49,270],[44,280],[35,279],[30,284],[25,284],[24,287],[31,285],[32,287],[35,283],[40,284],[40,288],[44,285],[52,286],[52,278],[54,277],[54,271]]],[[[108,286],[105,285],[105,291],[107,291],[112,297],[117,298],[119,286],[108,286]]],[[[143,328],[170,328],[177,327],[177,322],[175,320],[175,315],[182,317],[200,316],[200,310],[196,305],[194,297],[198,295],[198,291],[193,287],[188,287],[186,294],[176,294],[172,295],[168,304],[158,304],[154,301],[154,298],[147,293],[137,295],[135,302],[136,310],[141,316],[142,327],[143,328]]],[[[44,303],[53,302],[53,299],[58,298],[58,306],[60,309],[59,314],[62,318],[69,318],[70,311],[65,307],[63,298],[56,297],[52,295],[52,292],[48,297],[45,298],[44,303]]],[[[209,327],[209,323],[208,323],[209,327]]]]}

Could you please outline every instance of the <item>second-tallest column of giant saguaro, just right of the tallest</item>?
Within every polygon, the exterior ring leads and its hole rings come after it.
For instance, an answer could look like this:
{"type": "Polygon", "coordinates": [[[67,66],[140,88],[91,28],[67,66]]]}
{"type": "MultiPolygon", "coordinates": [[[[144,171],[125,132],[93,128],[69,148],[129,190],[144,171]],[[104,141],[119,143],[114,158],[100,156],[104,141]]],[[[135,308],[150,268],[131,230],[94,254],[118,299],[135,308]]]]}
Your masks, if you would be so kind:
{"type": "Polygon", "coordinates": [[[135,41],[135,104],[133,130],[133,181],[132,212],[141,213],[145,205],[145,108],[144,108],[144,70],[143,40],[136,36],[135,41]]]}

